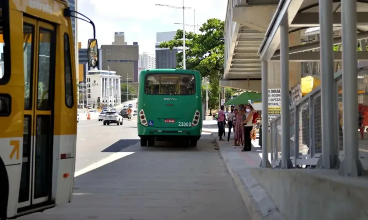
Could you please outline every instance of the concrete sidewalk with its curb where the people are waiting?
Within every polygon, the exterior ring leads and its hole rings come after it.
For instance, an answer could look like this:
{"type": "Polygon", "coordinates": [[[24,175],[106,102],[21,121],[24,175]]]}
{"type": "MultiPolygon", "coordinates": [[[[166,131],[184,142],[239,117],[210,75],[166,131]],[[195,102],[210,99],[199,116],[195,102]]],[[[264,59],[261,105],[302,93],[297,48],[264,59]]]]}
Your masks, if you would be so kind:
{"type": "Polygon", "coordinates": [[[216,140],[220,154],[248,208],[251,219],[284,220],[268,193],[251,174],[251,169],[259,168],[262,161],[262,149],[258,145],[258,136],[256,141],[252,141],[252,151],[241,152],[241,146],[232,148],[233,135],[231,135],[230,142],[219,142],[217,128],[206,126],[202,132],[212,133],[216,140]]]}

